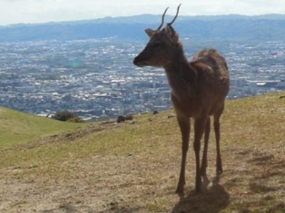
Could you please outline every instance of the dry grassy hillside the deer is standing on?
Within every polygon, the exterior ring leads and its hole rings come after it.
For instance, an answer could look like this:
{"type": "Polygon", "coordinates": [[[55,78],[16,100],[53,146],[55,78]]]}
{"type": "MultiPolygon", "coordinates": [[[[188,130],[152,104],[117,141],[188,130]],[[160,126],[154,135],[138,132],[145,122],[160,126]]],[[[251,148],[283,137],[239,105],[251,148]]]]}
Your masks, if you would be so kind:
{"type": "Polygon", "coordinates": [[[192,146],[186,195],[174,193],[181,142],[169,110],[0,147],[0,212],[285,212],[281,95],[285,93],[227,101],[222,117],[224,173],[214,175],[212,133],[209,182],[204,182],[202,194],[192,191],[192,146]]]}

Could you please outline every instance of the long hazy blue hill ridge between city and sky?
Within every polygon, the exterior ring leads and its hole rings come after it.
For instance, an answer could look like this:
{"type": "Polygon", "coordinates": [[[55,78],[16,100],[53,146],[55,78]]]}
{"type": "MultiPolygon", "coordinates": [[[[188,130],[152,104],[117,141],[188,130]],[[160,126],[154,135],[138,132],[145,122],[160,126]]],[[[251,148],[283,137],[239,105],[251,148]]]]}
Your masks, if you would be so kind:
{"type": "MultiPolygon", "coordinates": [[[[113,37],[145,39],[145,28],[157,28],[159,15],[106,17],[86,21],[17,24],[0,27],[1,41],[76,40],[113,37]]],[[[166,16],[171,20],[172,16],[166,16]]],[[[285,15],[180,16],[174,24],[181,37],[201,40],[284,40],[285,15]]]]}

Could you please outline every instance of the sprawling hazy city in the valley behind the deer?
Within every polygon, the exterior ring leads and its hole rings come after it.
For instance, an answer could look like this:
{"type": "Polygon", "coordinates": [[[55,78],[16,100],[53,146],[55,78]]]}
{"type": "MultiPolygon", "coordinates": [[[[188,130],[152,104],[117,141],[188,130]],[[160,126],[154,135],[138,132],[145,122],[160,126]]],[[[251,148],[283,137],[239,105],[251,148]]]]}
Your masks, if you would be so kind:
{"type": "MultiPolygon", "coordinates": [[[[189,59],[187,38],[182,39],[189,59]]],[[[0,43],[0,105],[50,116],[72,110],[85,120],[172,107],[162,68],[138,68],[142,41],[100,38],[0,43]]],[[[231,90],[227,98],[285,90],[285,42],[229,42],[231,90]]]]}

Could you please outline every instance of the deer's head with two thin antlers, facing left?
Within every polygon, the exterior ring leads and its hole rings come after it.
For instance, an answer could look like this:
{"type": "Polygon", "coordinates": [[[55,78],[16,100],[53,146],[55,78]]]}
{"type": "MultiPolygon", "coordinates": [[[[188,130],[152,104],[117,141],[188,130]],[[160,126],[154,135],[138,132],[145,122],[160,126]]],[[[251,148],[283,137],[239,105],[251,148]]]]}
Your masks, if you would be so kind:
{"type": "Polygon", "coordinates": [[[174,54],[173,50],[179,41],[179,36],[171,25],[178,16],[180,5],[177,7],[175,18],[170,23],[167,23],[165,28],[160,30],[168,8],[165,9],[162,15],[162,23],[156,30],[150,28],[145,30],[145,33],[150,36],[150,41],[148,41],[147,46],[145,46],[142,52],[135,57],[133,63],[136,66],[162,67],[169,63],[170,58],[174,54]]]}

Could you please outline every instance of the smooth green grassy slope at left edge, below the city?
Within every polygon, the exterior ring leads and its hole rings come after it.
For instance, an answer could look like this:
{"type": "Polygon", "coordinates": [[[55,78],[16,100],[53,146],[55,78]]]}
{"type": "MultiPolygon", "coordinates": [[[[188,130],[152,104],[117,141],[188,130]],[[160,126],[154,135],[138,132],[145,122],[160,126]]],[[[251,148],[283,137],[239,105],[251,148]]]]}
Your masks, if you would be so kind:
{"type": "Polygon", "coordinates": [[[34,140],[37,137],[76,130],[81,126],[83,124],[63,123],[0,107],[0,148],[34,140]]]}

